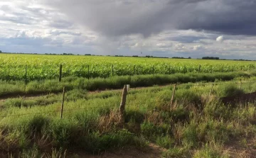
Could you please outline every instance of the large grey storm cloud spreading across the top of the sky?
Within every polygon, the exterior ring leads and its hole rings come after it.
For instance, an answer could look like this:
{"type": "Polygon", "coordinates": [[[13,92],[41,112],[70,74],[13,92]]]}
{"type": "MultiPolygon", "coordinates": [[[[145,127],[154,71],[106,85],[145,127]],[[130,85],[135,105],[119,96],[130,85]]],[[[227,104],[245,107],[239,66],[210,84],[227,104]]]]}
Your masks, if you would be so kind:
{"type": "Polygon", "coordinates": [[[46,1],[80,26],[107,36],[147,37],[170,29],[256,35],[256,0],[46,1]]]}

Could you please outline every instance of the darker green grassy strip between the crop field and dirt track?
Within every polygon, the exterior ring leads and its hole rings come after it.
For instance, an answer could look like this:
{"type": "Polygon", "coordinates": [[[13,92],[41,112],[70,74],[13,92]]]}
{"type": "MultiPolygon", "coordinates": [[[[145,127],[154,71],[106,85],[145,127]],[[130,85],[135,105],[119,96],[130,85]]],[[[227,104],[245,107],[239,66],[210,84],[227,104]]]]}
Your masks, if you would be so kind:
{"type": "Polygon", "coordinates": [[[31,81],[25,85],[24,81],[0,81],[0,97],[23,96],[31,94],[59,93],[63,86],[67,91],[73,89],[86,89],[97,91],[105,89],[121,89],[124,84],[131,87],[147,87],[154,85],[166,85],[176,83],[189,83],[198,81],[230,81],[236,77],[255,77],[255,72],[230,72],[230,73],[188,73],[188,74],[155,74],[122,76],[110,78],[85,79],[82,77],[65,77],[62,81],[58,79],[47,79],[43,81],[31,81]]]}

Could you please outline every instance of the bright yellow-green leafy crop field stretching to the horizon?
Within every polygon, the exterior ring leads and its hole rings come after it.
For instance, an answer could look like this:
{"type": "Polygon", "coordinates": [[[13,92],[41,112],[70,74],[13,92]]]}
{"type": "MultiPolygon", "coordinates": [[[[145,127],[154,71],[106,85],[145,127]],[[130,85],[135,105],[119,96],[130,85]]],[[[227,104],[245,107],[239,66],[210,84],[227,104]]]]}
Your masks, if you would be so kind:
{"type": "Polygon", "coordinates": [[[82,55],[0,55],[0,79],[55,79],[63,64],[63,77],[111,77],[134,74],[237,72],[255,69],[256,62],[228,60],[178,60],[146,57],[82,55]],[[201,66],[200,66],[201,65],[201,66]],[[199,70],[200,69],[200,70],[199,70]]]}

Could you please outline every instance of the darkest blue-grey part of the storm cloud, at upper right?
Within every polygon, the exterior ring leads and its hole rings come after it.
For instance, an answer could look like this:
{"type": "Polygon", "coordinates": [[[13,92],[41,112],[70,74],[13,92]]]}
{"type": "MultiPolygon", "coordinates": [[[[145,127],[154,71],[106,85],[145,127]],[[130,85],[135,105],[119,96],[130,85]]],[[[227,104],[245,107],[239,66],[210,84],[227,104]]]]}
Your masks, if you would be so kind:
{"type": "Polygon", "coordinates": [[[231,35],[256,35],[255,0],[217,0],[201,4],[178,28],[209,30],[231,35]],[[213,9],[210,9],[210,5],[213,9]],[[205,8],[203,8],[205,7],[205,8]],[[209,10],[210,9],[210,10],[209,10]]]}

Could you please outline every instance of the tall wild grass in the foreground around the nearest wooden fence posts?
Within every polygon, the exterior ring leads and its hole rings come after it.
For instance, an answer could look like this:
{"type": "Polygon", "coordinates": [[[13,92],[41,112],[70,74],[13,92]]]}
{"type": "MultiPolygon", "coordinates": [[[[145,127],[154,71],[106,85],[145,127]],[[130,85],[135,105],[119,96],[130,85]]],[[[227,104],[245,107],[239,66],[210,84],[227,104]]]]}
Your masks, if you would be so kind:
{"type": "MultiPolygon", "coordinates": [[[[223,145],[234,138],[245,139],[249,133],[256,136],[256,108],[254,103],[225,106],[218,98],[230,96],[230,86],[221,83],[213,87],[210,98],[211,84],[179,85],[172,107],[172,86],[129,91],[124,123],[117,110],[121,91],[85,92],[81,96],[80,91],[70,92],[63,119],[60,101],[31,108],[18,108],[12,106],[16,101],[9,102],[1,110],[1,116],[6,117],[0,118],[0,148],[30,155],[50,154],[52,149],[63,149],[60,153],[65,149],[97,153],[130,146],[140,148],[153,142],[167,149],[164,157],[227,157],[223,145]],[[26,113],[39,114],[21,115],[26,113]],[[31,147],[34,152],[27,151],[31,147]]],[[[246,93],[256,88],[247,84],[242,90],[246,93]]]]}

